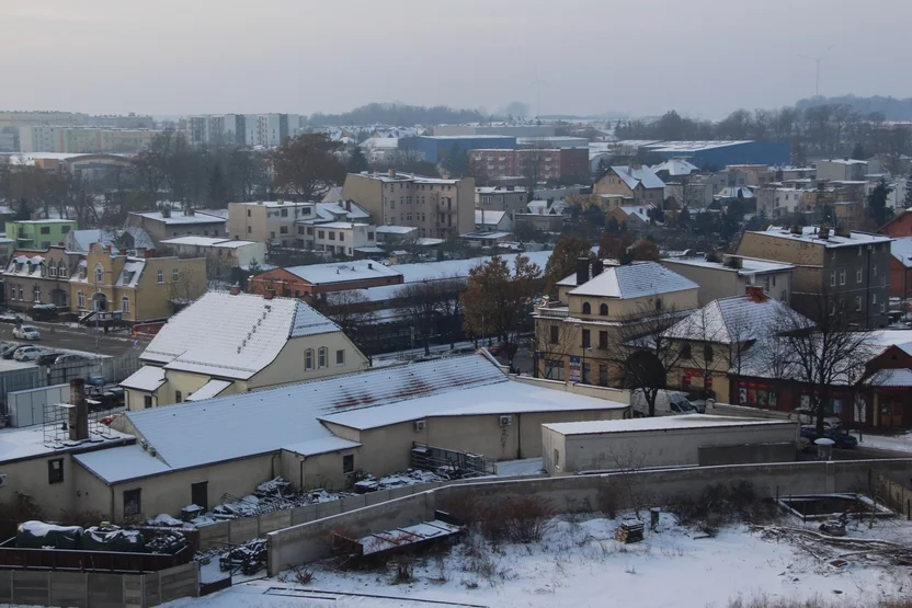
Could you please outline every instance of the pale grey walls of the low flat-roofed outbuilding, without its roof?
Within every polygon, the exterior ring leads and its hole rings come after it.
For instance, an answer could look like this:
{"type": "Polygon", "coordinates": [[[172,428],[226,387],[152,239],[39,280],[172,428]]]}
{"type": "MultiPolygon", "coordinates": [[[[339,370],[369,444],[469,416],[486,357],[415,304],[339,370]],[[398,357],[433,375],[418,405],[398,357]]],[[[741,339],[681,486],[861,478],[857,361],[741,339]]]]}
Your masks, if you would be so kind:
{"type": "Polygon", "coordinates": [[[641,433],[593,433],[567,435],[559,460],[560,470],[554,468],[554,449],[559,441],[546,435],[557,433],[543,428],[543,444],[550,452],[545,470],[550,474],[568,474],[579,471],[616,469],[642,469],[648,467],[687,467],[699,463],[699,448],[707,446],[734,446],[744,444],[774,444],[795,441],[797,423],[771,423],[759,426],[716,426],[707,428],[675,428],[641,433]],[[548,468],[551,464],[551,468],[548,468]]]}

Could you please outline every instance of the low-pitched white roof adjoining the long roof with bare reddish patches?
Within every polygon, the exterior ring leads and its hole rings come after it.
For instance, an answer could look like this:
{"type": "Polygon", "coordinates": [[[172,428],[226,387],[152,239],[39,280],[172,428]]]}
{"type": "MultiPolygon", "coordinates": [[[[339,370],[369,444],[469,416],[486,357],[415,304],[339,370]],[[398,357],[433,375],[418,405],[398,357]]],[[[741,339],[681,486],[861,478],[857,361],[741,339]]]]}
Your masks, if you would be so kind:
{"type": "MultiPolygon", "coordinates": [[[[483,355],[469,356],[482,357],[483,355]]],[[[591,397],[574,395],[572,399],[568,399],[563,391],[516,382],[501,377],[492,383],[443,394],[419,397],[381,408],[329,414],[321,416],[320,420],[365,431],[428,417],[522,414],[560,410],[625,410],[627,408],[629,405],[626,403],[591,397]]]]}

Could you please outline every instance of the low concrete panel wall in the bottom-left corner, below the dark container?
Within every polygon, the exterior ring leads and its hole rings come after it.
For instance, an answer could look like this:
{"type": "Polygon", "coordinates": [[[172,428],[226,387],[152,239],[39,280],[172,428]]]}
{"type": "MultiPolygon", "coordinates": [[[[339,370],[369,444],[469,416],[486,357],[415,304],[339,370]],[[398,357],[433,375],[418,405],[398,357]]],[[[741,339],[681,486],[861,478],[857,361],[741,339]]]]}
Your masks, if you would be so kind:
{"type": "Polygon", "coordinates": [[[0,570],[0,601],[9,604],[147,608],[198,595],[196,562],[145,574],[0,570]]]}

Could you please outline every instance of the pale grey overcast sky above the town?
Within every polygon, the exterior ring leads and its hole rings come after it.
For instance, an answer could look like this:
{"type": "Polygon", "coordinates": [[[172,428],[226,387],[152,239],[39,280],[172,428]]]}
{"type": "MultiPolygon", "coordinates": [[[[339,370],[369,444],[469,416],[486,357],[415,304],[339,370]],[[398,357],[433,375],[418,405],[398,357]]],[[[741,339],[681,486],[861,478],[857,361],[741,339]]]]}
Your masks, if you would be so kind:
{"type": "Polygon", "coordinates": [[[912,96],[912,0],[0,0],[0,110],[682,113],[912,96]]]}

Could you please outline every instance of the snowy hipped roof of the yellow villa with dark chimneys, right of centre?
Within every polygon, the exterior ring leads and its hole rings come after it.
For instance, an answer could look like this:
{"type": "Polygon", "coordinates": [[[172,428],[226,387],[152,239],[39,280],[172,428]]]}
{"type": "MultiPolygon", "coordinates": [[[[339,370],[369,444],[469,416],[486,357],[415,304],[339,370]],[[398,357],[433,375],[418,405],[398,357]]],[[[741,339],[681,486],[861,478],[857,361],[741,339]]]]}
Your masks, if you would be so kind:
{"type": "Polygon", "coordinates": [[[602,274],[570,291],[570,295],[630,299],[687,289],[699,289],[699,285],[658,262],[635,262],[606,267],[602,274]]]}

